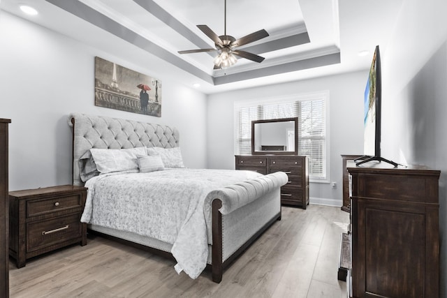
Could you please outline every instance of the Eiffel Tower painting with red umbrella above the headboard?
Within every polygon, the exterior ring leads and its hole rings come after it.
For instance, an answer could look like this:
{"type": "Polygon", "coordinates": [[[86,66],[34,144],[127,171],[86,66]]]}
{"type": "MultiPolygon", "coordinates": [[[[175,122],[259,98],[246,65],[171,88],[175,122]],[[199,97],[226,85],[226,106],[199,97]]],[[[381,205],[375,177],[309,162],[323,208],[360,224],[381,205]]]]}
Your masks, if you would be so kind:
{"type": "Polygon", "coordinates": [[[161,117],[161,81],[95,57],[95,105],[161,117]]]}

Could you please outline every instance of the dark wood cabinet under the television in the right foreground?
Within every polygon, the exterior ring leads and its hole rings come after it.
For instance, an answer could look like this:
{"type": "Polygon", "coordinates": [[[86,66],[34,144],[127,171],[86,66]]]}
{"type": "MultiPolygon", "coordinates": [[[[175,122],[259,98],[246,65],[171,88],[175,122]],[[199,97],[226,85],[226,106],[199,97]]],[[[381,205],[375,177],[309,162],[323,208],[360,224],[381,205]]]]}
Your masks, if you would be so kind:
{"type": "Polygon", "coordinates": [[[352,297],[439,297],[439,170],[387,163],[352,179],[352,297]]]}

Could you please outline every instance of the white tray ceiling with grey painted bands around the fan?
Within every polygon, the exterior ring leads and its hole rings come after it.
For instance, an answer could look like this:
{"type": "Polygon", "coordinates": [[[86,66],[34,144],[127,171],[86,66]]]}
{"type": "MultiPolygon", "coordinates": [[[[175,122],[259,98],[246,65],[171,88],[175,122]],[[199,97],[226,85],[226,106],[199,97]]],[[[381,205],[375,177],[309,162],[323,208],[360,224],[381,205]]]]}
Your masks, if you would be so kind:
{"type": "Polygon", "coordinates": [[[227,35],[270,36],[241,47],[265,57],[261,64],[238,59],[226,70],[213,70],[215,52],[177,53],[214,47],[196,25],[223,35],[224,0],[0,0],[0,8],[123,59],[138,54],[157,73],[211,94],[367,69],[374,47],[386,48],[402,1],[227,0],[227,35]],[[22,3],[39,14],[24,15],[22,3]],[[362,50],[369,54],[359,57],[362,50]]]}

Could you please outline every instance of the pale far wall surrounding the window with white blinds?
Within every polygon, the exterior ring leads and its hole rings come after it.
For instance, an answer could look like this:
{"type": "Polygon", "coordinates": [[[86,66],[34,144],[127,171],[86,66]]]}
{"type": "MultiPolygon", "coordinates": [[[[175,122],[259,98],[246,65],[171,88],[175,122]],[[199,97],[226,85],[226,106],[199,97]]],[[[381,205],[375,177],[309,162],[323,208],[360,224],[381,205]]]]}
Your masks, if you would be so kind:
{"type": "Polygon", "coordinates": [[[311,183],[311,202],[342,206],[342,154],[363,152],[363,94],[368,70],[313,80],[275,84],[208,96],[208,167],[234,169],[234,104],[244,100],[284,98],[293,94],[329,91],[330,184],[311,183]]]}

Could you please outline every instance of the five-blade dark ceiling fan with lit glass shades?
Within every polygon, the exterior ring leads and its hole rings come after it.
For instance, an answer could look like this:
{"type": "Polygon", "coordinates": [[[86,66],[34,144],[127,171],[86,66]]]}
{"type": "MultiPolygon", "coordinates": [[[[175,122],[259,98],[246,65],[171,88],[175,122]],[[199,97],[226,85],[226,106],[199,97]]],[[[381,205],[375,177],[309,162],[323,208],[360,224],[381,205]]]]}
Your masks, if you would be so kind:
{"type": "Polygon", "coordinates": [[[256,54],[236,49],[236,47],[240,47],[241,45],[247,45],[247,43],[253,43],[256,40],[267,37],[268,33],[264,29],[251,33],[239,39],[236,39],[233,36],[226,35],[226,0],[223,25],[224,31],[223,35],[221,36],[217,36],[217,34],[214,33],[214,31],[212,31],[210,27],[207,27],[207,25],[197,25],[198,29],[200,29],[203,33],[205,33],[206,36],[214,41],[214,44],[216,45],[215,49],[186,50],[179,51],[179,54],[217,51],[219,52],[219,54],[214,59],[214,69],[227,68],[228,66],[232,66],[233,64],[235,64],[237,61],[235,55],[258,63],[261,63],[265,59],[264,57],[258,56],[256,54]]]}

